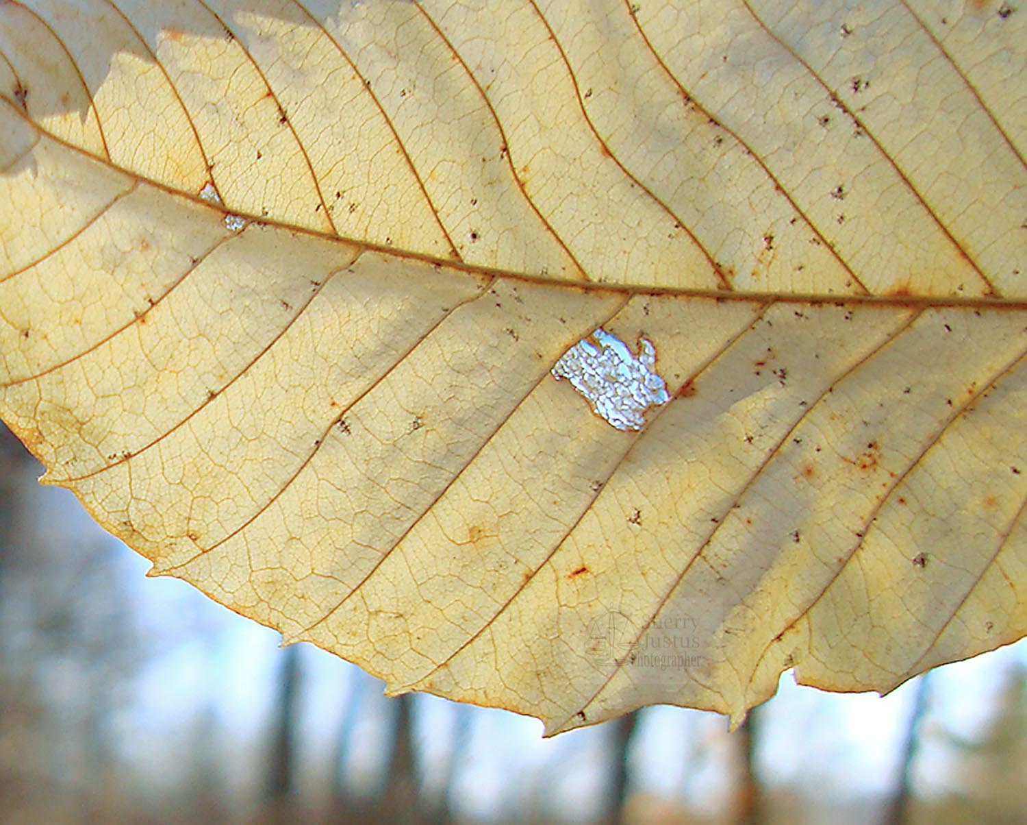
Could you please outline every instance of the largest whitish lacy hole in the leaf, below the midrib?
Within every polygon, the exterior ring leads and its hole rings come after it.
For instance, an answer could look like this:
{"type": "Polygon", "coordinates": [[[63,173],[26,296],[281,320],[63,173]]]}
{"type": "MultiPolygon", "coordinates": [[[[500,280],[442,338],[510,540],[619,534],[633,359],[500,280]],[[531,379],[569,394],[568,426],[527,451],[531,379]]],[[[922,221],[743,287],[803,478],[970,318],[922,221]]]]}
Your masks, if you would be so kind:
{"type": "Polygon", "coordinates": [[[639,340],[635,355],[602,327],[568,349],[553,368],[587,399],[597,415],[617,429],[641,429],[650,407],[671,400],[667,382],[656,373],[656,348],[639,340]]]}

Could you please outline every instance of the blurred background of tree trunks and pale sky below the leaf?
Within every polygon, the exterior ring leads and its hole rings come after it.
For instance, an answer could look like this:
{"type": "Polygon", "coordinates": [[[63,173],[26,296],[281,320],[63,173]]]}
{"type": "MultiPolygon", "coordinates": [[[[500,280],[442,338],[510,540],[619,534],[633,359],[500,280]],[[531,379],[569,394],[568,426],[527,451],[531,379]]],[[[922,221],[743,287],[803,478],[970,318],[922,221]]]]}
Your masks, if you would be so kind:
{"type": "Polygon", "coordinates": [[[0,424],[0,823],[1021,823],[1027,646],[737,732],[541,724],[382,684],[97,527],[0,424]]]}

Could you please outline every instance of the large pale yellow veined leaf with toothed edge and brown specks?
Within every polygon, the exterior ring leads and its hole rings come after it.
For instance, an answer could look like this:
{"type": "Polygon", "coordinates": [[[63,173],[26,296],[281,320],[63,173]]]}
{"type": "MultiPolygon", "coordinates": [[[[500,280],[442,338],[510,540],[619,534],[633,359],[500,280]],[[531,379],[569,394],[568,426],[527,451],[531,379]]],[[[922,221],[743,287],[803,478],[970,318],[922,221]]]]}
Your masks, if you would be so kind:
{"type": "Polygon", "coordinates": [[[1027,13],[0,2],[0,414],[115,535],[540,717],[1027,633],[1027,13]]]}

